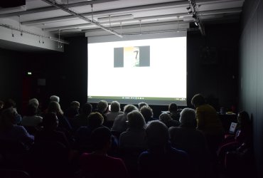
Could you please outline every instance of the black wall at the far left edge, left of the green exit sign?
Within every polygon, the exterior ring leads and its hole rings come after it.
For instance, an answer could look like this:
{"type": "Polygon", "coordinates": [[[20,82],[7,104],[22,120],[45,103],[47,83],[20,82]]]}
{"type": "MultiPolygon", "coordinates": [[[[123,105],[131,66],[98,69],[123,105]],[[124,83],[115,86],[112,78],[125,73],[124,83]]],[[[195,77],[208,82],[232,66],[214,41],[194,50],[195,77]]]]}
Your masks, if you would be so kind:
{"type": "MultiPolygon", "coordinates": [[[[0,48],[0,100],[21,101],[21,53],[0,48]]],[[[18,108],[19,109],[19,108],[18,108]]]]}

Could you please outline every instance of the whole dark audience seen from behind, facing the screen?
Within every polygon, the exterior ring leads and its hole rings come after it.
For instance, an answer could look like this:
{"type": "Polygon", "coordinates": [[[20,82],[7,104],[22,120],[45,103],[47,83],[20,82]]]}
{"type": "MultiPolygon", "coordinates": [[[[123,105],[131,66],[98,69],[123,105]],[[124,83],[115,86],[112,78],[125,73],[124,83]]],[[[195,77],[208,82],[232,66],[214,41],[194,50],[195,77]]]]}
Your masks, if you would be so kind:
{"type": "Polygon", "coordinates": [[[58,96],[49,100],[43,109],[32,98],[23,115],[14,100],[0,101],[0,175],[249,176],[247,163],[253,162],[249,115],[238,113],[237,129],[229,134],[203,95],[193,96],[194,109],[170,103],[160,115],[154,115],[147,103],[124,105],[122,111],[116,100],[110,108],[105,100],[95,107],[72,101],[63,112],[58,96]]]}

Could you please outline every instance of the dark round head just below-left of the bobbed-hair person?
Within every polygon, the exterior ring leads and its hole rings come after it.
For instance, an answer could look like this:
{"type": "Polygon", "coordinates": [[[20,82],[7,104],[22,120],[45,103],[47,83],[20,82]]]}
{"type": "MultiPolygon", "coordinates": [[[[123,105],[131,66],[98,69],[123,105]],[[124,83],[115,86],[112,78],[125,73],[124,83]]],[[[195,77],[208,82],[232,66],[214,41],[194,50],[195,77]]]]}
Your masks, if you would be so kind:
{"type": "Polygon", "coordinates": [[[43,115],[42,124],[45,130],[55,130],[58,127],[58,117],[55,115],[55,112],[43,115]]]}

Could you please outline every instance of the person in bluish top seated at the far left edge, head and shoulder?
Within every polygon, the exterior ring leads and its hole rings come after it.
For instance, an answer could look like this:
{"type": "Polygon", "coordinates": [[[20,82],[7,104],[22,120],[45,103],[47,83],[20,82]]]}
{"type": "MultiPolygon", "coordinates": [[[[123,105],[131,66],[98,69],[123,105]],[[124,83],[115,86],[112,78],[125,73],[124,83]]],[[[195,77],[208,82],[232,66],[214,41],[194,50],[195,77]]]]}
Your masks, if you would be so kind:
{"type": "Polygon", "coordinates": [[[23,126],[16,125],[16,110],[14,108],[7,108],[1,112],[0,139],[22,142],[27,146],[30,146],[34,141],[33,135],[29,135],[23,126]]]}

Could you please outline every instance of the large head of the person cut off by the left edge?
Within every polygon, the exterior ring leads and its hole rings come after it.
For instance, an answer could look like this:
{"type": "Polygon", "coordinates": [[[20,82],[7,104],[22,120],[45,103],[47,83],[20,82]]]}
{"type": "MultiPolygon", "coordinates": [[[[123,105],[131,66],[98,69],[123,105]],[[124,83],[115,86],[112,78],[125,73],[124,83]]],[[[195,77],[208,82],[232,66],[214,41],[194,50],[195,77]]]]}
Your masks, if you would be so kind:
{"type": "Polygon", "coordinates": [[[7,108],[1,112],[0,116],[0,130],[8,130],[16,124],[16,110],[14,108],[7,108]]]}

